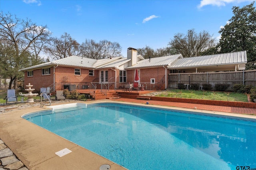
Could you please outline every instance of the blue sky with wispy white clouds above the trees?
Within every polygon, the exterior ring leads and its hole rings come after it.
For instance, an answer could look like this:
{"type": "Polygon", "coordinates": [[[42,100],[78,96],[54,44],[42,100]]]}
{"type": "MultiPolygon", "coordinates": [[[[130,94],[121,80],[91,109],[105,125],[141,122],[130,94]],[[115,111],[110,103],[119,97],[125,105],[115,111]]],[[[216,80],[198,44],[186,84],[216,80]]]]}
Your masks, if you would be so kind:
{"type": "MultiPolygon", "coordinates": [[[[233,16],[233,6],[252,0],[0,0],[0,11],[37,25],[53,37],[64,32],[78,43],[85,39],[118,42],[128,47],[166,47],[176,33],[206,30],[219,38],[220,27],[233,16]]],[[[255,4],[254,4],[255,5],[255,4]]]]}

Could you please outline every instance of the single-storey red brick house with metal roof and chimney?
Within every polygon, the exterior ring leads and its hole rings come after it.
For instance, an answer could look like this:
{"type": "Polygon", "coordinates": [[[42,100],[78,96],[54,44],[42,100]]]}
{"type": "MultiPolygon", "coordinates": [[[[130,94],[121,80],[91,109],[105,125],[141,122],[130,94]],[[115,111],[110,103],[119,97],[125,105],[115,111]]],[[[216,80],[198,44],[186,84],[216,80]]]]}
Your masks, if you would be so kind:
{"type": "Polygon", "coordinates": [[[246,51],[218,55],[183,58],[181,54],[144,59],[137,50],[129,47],[127,58],[89,59],[70,56],[64,59],[21,69],[24,85],[54,90],[123,89],[134,83],[138,70],[138,83],[143,90],[166,89],[168,74],[176,72],[206,72],[244,70],[246,51]]]}

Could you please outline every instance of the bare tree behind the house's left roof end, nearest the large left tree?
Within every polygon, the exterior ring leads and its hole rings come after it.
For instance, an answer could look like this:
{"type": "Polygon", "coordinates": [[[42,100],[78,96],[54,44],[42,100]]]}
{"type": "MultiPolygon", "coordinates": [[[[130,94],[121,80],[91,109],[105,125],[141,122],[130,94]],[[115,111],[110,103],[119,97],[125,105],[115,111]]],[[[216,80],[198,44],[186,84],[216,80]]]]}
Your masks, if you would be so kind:
{"type": "Polygon", "coordinates": [[[52,59],[58,60],[72,55],[79,55],[79,46],[80,44],[65,32],[60,38],[52,38],[48,45],[44,47],[44,51],[52,59]]]}

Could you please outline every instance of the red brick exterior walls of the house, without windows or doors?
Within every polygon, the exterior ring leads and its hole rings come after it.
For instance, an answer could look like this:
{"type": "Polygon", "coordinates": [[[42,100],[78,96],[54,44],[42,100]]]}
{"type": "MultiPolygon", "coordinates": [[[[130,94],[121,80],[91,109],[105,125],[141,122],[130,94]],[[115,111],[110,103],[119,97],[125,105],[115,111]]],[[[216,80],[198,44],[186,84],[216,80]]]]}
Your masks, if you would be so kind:
{"type": "MultiPolygon", "coordinates": [[[[27,77],[27,72],[25,72],[25,88],[28,83],[34,85],[33,88],[36,90],[40,90],[41,87],[48,87],[54,83],[54,74],[55,74],[55,82],[58,86],[59,82],[62,83],[79,83],[79,82],[99,82],[99,72],[100,70],[94,70],[94,76],[89,76],[88,69],[81,68],[81,75],[75,75],[74,68],[62,67],[58,66],[55,68],[55,73],[53,67],[50,68],[50,75],[42,75],[42,69],[33,70],[33,76],[27,77]]],[[[108,70],[108,80],[110,82],[115,81],[116,74],[116,82],[119,82],[119,70],[116,69],[116,72],[112,69],[108,70]]],[[[126,72],[127,82],[134,82],[134,70],[127,70],[126,72]]],[[[162,67],[159,68],[145,68],[140,69],[140,82],[150,82],[150,78],[155,78],[156,83],[164,83],[165,79],[165,69],[162,67]]],[[[62,86],[62,85],[61,85],[62,86]]],[[[56,87],[56,89],[58,89],[56,87]]],[[[61,88],[60,88],[61,89],[61,88]]]]}

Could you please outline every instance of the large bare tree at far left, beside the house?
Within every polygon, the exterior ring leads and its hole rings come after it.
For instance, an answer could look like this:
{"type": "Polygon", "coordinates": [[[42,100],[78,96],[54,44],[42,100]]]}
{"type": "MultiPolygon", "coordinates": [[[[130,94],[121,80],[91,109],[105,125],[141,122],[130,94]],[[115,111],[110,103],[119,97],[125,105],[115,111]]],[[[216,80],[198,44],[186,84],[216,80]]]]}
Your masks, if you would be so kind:
{"type": "Polygon", "coordinates": [[[20,78],[18,70],[28,66],[29,57],[38,56],[50,35],[46,26],[38,26],[28,19],[21,20],[10,13],[0,13],[0,43],[3,49],[0,62],[4,66],[1,74],[10,77],[9,88],[14,80],[20,78]],[[11,57],[8,60],[11,63],[4,63],[4,57],[11,57]]]}

